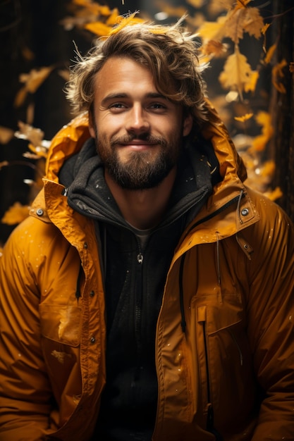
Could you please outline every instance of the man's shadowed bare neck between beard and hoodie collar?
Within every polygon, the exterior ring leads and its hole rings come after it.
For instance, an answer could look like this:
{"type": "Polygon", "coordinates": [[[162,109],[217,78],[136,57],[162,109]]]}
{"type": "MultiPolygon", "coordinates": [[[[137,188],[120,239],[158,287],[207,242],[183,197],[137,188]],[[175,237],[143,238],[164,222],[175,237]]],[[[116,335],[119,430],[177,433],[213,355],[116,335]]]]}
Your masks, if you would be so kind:
{"type": "Polygon", "coordinates": [[[147,230],[156,226],[164,216],[169,202],[176,168],[157,186],[147,190],[121,188],[105,170],[105,180],[125,221],[135,228],[147,230]]]}

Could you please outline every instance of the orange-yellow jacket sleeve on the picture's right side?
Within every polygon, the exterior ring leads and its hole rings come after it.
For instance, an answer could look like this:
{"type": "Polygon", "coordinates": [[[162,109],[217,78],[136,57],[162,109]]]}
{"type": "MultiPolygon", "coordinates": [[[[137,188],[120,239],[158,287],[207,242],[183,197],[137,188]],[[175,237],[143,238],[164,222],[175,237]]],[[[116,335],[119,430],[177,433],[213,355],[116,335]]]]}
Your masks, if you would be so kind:
{"type": "Polygon", "coordinates": [[[248,335],[262,387],[252,441],[294,440],[294,228],[271,201],[257,206],[251,237],[248,335]]]}

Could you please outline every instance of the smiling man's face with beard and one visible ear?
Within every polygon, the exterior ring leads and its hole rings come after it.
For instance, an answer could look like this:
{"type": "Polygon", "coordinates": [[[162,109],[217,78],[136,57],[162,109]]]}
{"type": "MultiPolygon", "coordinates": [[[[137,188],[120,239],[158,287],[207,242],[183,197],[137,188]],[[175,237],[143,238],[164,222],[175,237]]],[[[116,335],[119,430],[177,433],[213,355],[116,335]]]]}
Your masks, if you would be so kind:
{"type": "Polygon", "coordinates": [[[109,58],[97,73],[90,134],[106,173],[122,188],[156,187],[176,167],[192,116],[157,91],[131,58],[109,58]]]}

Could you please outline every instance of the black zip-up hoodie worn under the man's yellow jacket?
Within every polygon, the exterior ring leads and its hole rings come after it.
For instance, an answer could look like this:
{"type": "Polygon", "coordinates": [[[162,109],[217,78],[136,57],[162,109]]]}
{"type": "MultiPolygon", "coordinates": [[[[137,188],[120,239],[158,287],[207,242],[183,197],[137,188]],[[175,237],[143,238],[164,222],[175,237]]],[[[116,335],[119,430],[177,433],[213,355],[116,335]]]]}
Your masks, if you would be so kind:
{"type": "Polygon", "coordinates": [[[106,387],[92,440],[151,440],[157,412],[156,325],[166,275],[185,225],[212,192],[216,160],[197,150],[195,145],[183,150],[166,216],[148,231],[136,230],[121,216],[94,139],[61,169],[68,204],[97,221],[104,266],[106,387]]]}

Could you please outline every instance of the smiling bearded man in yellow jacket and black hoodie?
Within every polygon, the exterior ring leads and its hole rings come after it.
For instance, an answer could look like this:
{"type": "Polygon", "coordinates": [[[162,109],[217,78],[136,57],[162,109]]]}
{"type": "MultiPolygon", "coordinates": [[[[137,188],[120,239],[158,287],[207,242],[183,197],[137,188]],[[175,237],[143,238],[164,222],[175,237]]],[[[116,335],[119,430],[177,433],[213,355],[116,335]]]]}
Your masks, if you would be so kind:
{"type": "Polygon", "coordinates": [[[0,440],[293,441],[293,225],[244,185],[192,37],[121,25],[68,98],[0,259],[0,440]]]}

